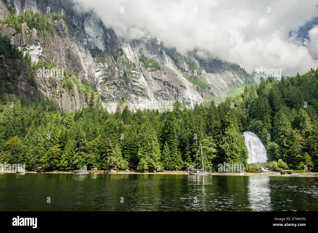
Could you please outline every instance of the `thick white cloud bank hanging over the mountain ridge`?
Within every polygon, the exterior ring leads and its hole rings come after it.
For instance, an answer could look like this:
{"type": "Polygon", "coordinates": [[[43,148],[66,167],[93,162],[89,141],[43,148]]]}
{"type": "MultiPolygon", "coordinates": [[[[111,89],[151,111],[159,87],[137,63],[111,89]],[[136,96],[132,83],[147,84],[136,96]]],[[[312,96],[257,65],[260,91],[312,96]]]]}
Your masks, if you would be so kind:
{"type": "Polygon", "coordinates": [[[289,31],[297,32],[318,16],[317,0],[75,1],[94,8],[121,38],[157,37],[180,52],[209,52],[250,72],[281,68],[284,75],[294,75],[318,66],[318,28],[309,32],[311,41],[306,46],[295,39],[295,33],[289,37],[289,31]]]}

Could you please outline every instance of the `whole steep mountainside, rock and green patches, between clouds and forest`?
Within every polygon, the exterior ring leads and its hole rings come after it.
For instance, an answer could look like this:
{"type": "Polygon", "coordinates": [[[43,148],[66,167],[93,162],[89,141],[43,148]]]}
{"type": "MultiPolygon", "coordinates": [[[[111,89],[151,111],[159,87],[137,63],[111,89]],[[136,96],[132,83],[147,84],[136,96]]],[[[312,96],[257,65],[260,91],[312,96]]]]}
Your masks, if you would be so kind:
{"type": "Polygon", "coordinates": [[[176,100],[193,107],[255,82],[239,65],[201,58],[195,51],[181,55],[156,38],[120,40],[99,17],[79,12],[71,0],[1,1],[0,18],[0,34],[27,55],[3,59],[2,101],[43,95],[60,110],[75,111],[86,106],[90,95],[109,112],[118,104],[133,111],[162,109],[176,100]],[[17,61],[21,70],[8,72],[17,61]],[[39,74],[43,67],[63,69],[65,75],[45,78],[39,74]]]}

